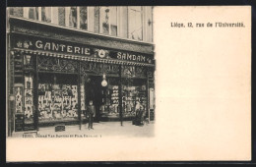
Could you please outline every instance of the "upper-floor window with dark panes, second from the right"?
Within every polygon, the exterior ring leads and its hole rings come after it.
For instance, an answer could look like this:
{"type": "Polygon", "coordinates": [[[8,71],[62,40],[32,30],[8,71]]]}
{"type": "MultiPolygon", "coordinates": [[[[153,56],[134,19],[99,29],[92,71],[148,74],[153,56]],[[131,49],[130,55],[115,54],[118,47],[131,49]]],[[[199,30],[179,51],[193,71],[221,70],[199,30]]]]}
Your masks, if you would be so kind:
{"type": "Polygon", "coordinates": [[[100,33],[117,35],[117,7],[100,7],[100,33]]]}

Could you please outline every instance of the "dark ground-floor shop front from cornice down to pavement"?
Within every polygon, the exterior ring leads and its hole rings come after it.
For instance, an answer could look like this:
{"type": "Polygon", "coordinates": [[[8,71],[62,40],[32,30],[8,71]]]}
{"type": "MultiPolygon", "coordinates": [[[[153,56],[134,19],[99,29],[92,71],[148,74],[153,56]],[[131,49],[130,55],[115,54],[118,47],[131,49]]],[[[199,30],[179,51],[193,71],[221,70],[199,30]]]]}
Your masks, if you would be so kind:
{"type": "Polygon", "coordinates": [[[154,46],[145,42],[9,19],[8,130],[135,117],[139,101],[155,120],[154,46]]]}

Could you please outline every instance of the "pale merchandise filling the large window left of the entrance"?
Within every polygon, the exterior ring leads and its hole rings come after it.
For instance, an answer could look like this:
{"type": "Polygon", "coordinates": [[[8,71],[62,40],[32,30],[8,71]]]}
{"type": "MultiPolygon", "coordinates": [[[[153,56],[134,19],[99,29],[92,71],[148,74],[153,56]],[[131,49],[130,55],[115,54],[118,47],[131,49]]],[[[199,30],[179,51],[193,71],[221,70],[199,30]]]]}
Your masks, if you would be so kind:
{"type": "Polygon", "coordinates": [[[39,121],[77,119],[77,85],[39,83],[38,89],[39,121]]]}

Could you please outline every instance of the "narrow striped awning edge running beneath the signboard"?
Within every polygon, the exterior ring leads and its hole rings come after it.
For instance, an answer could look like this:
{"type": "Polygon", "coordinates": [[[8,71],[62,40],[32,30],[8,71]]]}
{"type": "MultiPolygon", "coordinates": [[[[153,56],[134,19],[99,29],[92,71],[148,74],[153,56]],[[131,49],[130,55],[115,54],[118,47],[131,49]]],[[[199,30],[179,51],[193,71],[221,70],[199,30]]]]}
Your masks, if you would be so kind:
{"type": "Polygon", "coordinates": [[[78,56],[78,55],[71,55],[71,54],[64,54],[64,53],[63,54],[53,53],[53,52],[41,51],[41,50],[31,50],[31,49],[23,49],[23,48],[14,48],[14,50],[19,51],[20,53],[26,53],[26,54],[36,54],[36,55],[42,55],[42,56],[48,56],[48,57],[56,57],[56,58],[63,58],[63,59],[96,62],[96,63],[131,65],[131,66],[148,66],[148,67],[155,66],[154,64],[149,64],[149,63],[139,63],[139,62],[117,60],[117,59],[111,59],[111,58],[101,59],[96,57],[78,56]]]}

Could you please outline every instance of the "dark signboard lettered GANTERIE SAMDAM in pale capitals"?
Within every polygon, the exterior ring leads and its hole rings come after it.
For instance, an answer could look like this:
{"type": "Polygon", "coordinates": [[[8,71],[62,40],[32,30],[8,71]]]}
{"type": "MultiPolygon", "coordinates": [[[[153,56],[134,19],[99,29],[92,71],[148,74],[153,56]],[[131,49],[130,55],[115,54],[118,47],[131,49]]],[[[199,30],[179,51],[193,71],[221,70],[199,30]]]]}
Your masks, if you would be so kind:
{"type": "Polygon", "coordinates": [[[12,47],[30,50],[41,50],[55,52],[59,54],[74,54],[87,57],[97,57],[101,59],[125,60],[137,63],[153,64],[153,55],[128,51],[115,51],[94,46],[83,45],[81,43],[67,42],[40,37],[15,35],[12,40],[12,47]]]}

